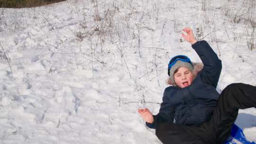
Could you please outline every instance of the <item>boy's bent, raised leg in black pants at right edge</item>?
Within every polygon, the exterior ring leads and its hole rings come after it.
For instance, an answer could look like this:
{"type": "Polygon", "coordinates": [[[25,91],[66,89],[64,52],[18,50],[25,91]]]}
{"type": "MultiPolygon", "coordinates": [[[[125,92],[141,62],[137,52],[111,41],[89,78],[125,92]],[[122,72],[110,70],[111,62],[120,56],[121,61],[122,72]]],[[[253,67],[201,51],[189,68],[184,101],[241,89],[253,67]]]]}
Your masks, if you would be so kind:
{"type": "Polygon", "coordinates": [[[243,83],[233,83],[220,94],[217,106],[208,123],[213,129],[212,136],[218,144],[222,144],[230,135],[238,109],[256,107],[256,87],[243,83]]]}

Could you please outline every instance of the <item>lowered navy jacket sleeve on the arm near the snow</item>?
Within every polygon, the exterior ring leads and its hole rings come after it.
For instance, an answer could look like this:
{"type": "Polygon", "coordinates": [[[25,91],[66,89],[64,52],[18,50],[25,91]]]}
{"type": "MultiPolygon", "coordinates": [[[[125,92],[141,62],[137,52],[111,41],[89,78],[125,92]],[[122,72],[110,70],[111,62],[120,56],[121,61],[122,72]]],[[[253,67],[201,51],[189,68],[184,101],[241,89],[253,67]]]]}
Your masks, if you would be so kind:
{"type": "Polygon", "coordinates": [[[161,103],[159,113],[154,115],[154,122],[152,124],[146,122],[146,126],[149,128],[156,128],[156,125],[160,122],[173,123],[174,121],[174,107],[169,101],[168,92],[164,92],[163,102],[161,103]]]}

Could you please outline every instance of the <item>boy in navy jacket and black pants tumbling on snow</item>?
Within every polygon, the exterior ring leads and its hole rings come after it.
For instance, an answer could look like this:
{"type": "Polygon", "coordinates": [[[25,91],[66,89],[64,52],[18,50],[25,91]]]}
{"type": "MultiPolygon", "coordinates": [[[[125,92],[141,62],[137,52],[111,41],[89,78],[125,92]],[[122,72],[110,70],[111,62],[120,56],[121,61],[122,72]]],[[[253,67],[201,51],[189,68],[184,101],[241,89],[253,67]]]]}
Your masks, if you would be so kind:
{"type": "Polygon", "coordinates": [[[138,112],[164,144],[222,144],[230,135],[238,109],[256,107],[256,87],[234,83],[219,95],[221,61],[206,41],[196,41],[191,28],[183,31],[203,68],[195,70],[184,55],[172,58],[168,75],[173,86],[165,89],[159,113],[153,116],[147,108],[138,112]]]}

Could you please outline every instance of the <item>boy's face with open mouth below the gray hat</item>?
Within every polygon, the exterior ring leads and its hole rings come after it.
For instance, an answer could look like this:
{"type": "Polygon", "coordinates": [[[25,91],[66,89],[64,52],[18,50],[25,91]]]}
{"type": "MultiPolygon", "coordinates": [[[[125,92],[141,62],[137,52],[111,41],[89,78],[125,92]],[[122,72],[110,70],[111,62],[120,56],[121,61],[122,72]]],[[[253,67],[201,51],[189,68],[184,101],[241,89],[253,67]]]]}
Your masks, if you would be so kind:
{"type": "Polygon", "coordinates": [[[174,81],[180,88],[185,88],[191,85],[194,77],[192,72],[185,67],[180,67],[178,72],[174,73],[174,81]]]}

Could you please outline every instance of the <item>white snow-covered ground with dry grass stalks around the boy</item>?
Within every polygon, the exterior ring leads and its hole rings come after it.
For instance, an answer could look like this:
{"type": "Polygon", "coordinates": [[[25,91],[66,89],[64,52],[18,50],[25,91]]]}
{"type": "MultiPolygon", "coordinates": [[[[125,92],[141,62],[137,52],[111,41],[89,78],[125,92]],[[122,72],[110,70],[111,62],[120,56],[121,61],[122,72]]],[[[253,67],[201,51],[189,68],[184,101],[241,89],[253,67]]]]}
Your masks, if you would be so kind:
{"type": "MultiPolygon", "coordinates": [[[[255,9],[254,0],[0,8],[0,144],[161,144],[137,108],[157,114],[171,57],[200,62],[182,28],[192,27],[222,60],[219,91],[256,85],[256,49],[247,45],[252,35],[256,45],[247,21],[255,9]]],[[[236,124],[256,141],[255,108],[240,110],[236,124]]]]}

